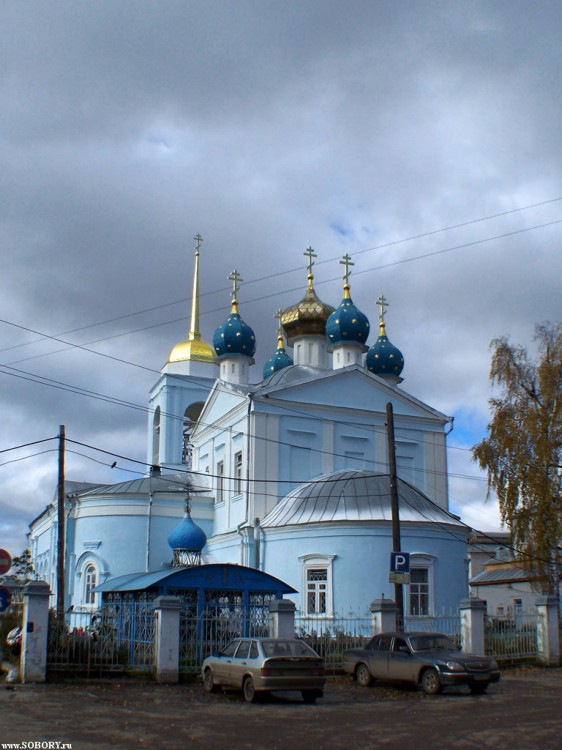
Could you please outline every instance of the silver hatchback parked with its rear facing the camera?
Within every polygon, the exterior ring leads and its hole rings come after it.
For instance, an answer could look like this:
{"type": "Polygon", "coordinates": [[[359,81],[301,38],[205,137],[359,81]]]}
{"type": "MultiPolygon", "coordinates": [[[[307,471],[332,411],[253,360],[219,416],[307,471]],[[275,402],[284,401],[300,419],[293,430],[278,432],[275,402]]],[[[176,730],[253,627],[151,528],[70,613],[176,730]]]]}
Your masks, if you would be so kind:
{"type": "Polygon", "coordinates": [[[305,703],[314,703],[326,683],[322,659],[304,641],[290,638],[235,638],[201,669],[207,692],[236,688],[248,703],[278,690],[300,690],[305,703]]]}

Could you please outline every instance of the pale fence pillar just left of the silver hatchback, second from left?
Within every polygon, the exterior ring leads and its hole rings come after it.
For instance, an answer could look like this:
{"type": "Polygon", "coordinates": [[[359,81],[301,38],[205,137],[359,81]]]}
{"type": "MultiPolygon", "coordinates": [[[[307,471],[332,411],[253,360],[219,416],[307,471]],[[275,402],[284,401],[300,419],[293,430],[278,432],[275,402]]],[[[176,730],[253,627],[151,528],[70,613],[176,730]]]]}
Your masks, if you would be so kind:
{"type": "Polygon", "coordinates": [[[180,662],[180,600],[154,600],[154,657],[156,682],[178,682],[180,662]]]}

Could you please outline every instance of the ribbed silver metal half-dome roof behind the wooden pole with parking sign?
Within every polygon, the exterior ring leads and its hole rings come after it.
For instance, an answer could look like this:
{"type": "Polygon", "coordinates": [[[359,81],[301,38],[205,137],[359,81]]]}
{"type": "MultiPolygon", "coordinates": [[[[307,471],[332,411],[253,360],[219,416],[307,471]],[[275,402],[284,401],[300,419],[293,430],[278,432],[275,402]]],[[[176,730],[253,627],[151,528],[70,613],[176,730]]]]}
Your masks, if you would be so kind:
{"type": "MultiPolygon", "coordinates": [[[[398,480],[398,504],[401,521],[463,526],[458,516],[443,510],[402,479],[398,480]]],[[[389,475],[344,470],[294,489],[263,519],[262,526],[391,520],[389,475]]]]}

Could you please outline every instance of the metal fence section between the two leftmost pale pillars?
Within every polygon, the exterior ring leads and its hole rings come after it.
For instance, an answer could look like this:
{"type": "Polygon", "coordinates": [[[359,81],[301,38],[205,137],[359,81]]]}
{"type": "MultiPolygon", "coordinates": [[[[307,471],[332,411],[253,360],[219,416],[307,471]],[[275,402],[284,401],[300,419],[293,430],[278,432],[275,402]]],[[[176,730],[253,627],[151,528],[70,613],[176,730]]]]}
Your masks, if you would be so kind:
{"type": "Polygon", "coordinates": [[[70,612],[49,622],[47,670],[101,675],[154,667],[151,602],[104,604],[95,612],[70,612]]]}

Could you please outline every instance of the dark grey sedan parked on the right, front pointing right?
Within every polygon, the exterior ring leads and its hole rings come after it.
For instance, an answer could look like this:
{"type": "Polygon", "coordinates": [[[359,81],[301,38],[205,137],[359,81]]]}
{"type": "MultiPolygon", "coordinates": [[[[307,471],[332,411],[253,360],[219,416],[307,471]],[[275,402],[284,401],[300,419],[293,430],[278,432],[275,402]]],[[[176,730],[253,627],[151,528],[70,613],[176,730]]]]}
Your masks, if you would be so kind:
{"type": "Polygon", "coordinates": [[[381,633],[365,648],[348,651],[344,670],[363,687],[373,680],[410,682],[429,695],[449,685],[468,685],[472,693],[484,693],[500,679],[494,659],[465,654],[442,633],[381,633]]]}

